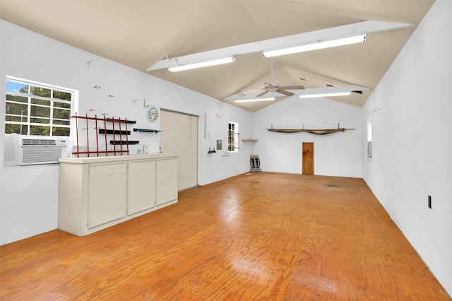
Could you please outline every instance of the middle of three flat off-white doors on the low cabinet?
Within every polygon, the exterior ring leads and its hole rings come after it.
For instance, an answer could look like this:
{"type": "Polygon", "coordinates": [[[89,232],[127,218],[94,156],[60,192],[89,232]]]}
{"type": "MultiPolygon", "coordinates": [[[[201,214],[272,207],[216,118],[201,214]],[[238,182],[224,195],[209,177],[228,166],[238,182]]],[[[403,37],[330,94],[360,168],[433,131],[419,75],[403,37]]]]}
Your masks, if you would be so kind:
{"type": "Polygon", "coordinates": [[[130,161],[127,215],[155,206],[155,160],[130,161]]]}

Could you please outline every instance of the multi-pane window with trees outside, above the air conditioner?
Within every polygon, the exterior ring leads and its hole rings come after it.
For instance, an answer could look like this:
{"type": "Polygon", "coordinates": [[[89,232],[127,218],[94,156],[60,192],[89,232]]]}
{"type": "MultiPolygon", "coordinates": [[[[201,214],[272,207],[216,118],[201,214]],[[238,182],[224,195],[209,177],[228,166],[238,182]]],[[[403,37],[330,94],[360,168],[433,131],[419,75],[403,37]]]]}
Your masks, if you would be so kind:
{"type": "Polygon", "coordinates": [[[75,91],[6,78],[5,134],[71,136],[75,91]]]}

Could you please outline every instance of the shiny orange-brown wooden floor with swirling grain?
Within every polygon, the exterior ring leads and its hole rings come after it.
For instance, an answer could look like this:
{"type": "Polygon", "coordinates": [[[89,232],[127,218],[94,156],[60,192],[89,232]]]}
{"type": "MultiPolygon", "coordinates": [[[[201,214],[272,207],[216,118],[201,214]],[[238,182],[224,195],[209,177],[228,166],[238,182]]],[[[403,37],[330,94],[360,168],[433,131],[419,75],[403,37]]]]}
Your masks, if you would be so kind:
{"type": "Polygon", "coordinates": [[[1,300],[451,300],[362,179],[239,175],[0,252],[1,300]]]}

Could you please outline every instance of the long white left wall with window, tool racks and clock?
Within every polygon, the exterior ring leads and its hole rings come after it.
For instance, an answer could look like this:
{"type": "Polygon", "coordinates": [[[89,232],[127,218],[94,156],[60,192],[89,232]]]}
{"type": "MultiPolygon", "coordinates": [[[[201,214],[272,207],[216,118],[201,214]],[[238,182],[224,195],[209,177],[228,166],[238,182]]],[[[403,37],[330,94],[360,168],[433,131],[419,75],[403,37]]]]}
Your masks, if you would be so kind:
{"type": "MultiPolygon", "coordinates": [[[[198,183],[208,184],[249,171],[251,149],[228,157],[207,155],[216,140],[227,141],[227,122],[238,122],[252,132],[252,114],[194,91],[162,81],[94,54],[64,45],[30,30],[0,21],[0,98],[5,99],[6,76],[78,90],[78,114],[136,120],[138,128],[160,129],[145,119],[143,101],[157,107],[200,116],[198,183]],[[91,61],[88,66],[87,61],[91,61]],[[101,88],[93,88],[100,85],[101,88]],[[112,95],[113,97],[109,97],[112,95]],[[133,102],[135,99],[140,101],[133,102]],[[94,110],[94,111],[91,111],[94,110]],[[206,114],[206,138],[203,134],[206,114]],[[219,118],[221,117],[221,118],[219,118]]],[[[0,106],[0,133],[4,133],[4,106],[0,106]]],[[[159,135],[132,132],[158,153],[159,135]]],[[[58,227],[58,166],[4,167],[4,136],[0,135],[0,244],[58,227]]]]}

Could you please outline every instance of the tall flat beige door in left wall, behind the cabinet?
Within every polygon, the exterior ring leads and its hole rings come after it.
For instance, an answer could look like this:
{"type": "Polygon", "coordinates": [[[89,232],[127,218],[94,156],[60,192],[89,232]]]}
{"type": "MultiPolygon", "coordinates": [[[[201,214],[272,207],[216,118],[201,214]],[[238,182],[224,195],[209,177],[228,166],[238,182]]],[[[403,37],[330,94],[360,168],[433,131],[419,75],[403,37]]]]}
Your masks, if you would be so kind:
{"type": "Polygon", "coordinates": [[[160,111],[160,152],[177,153],[177,190],[198,185],[198,117],[160,111]]]}

